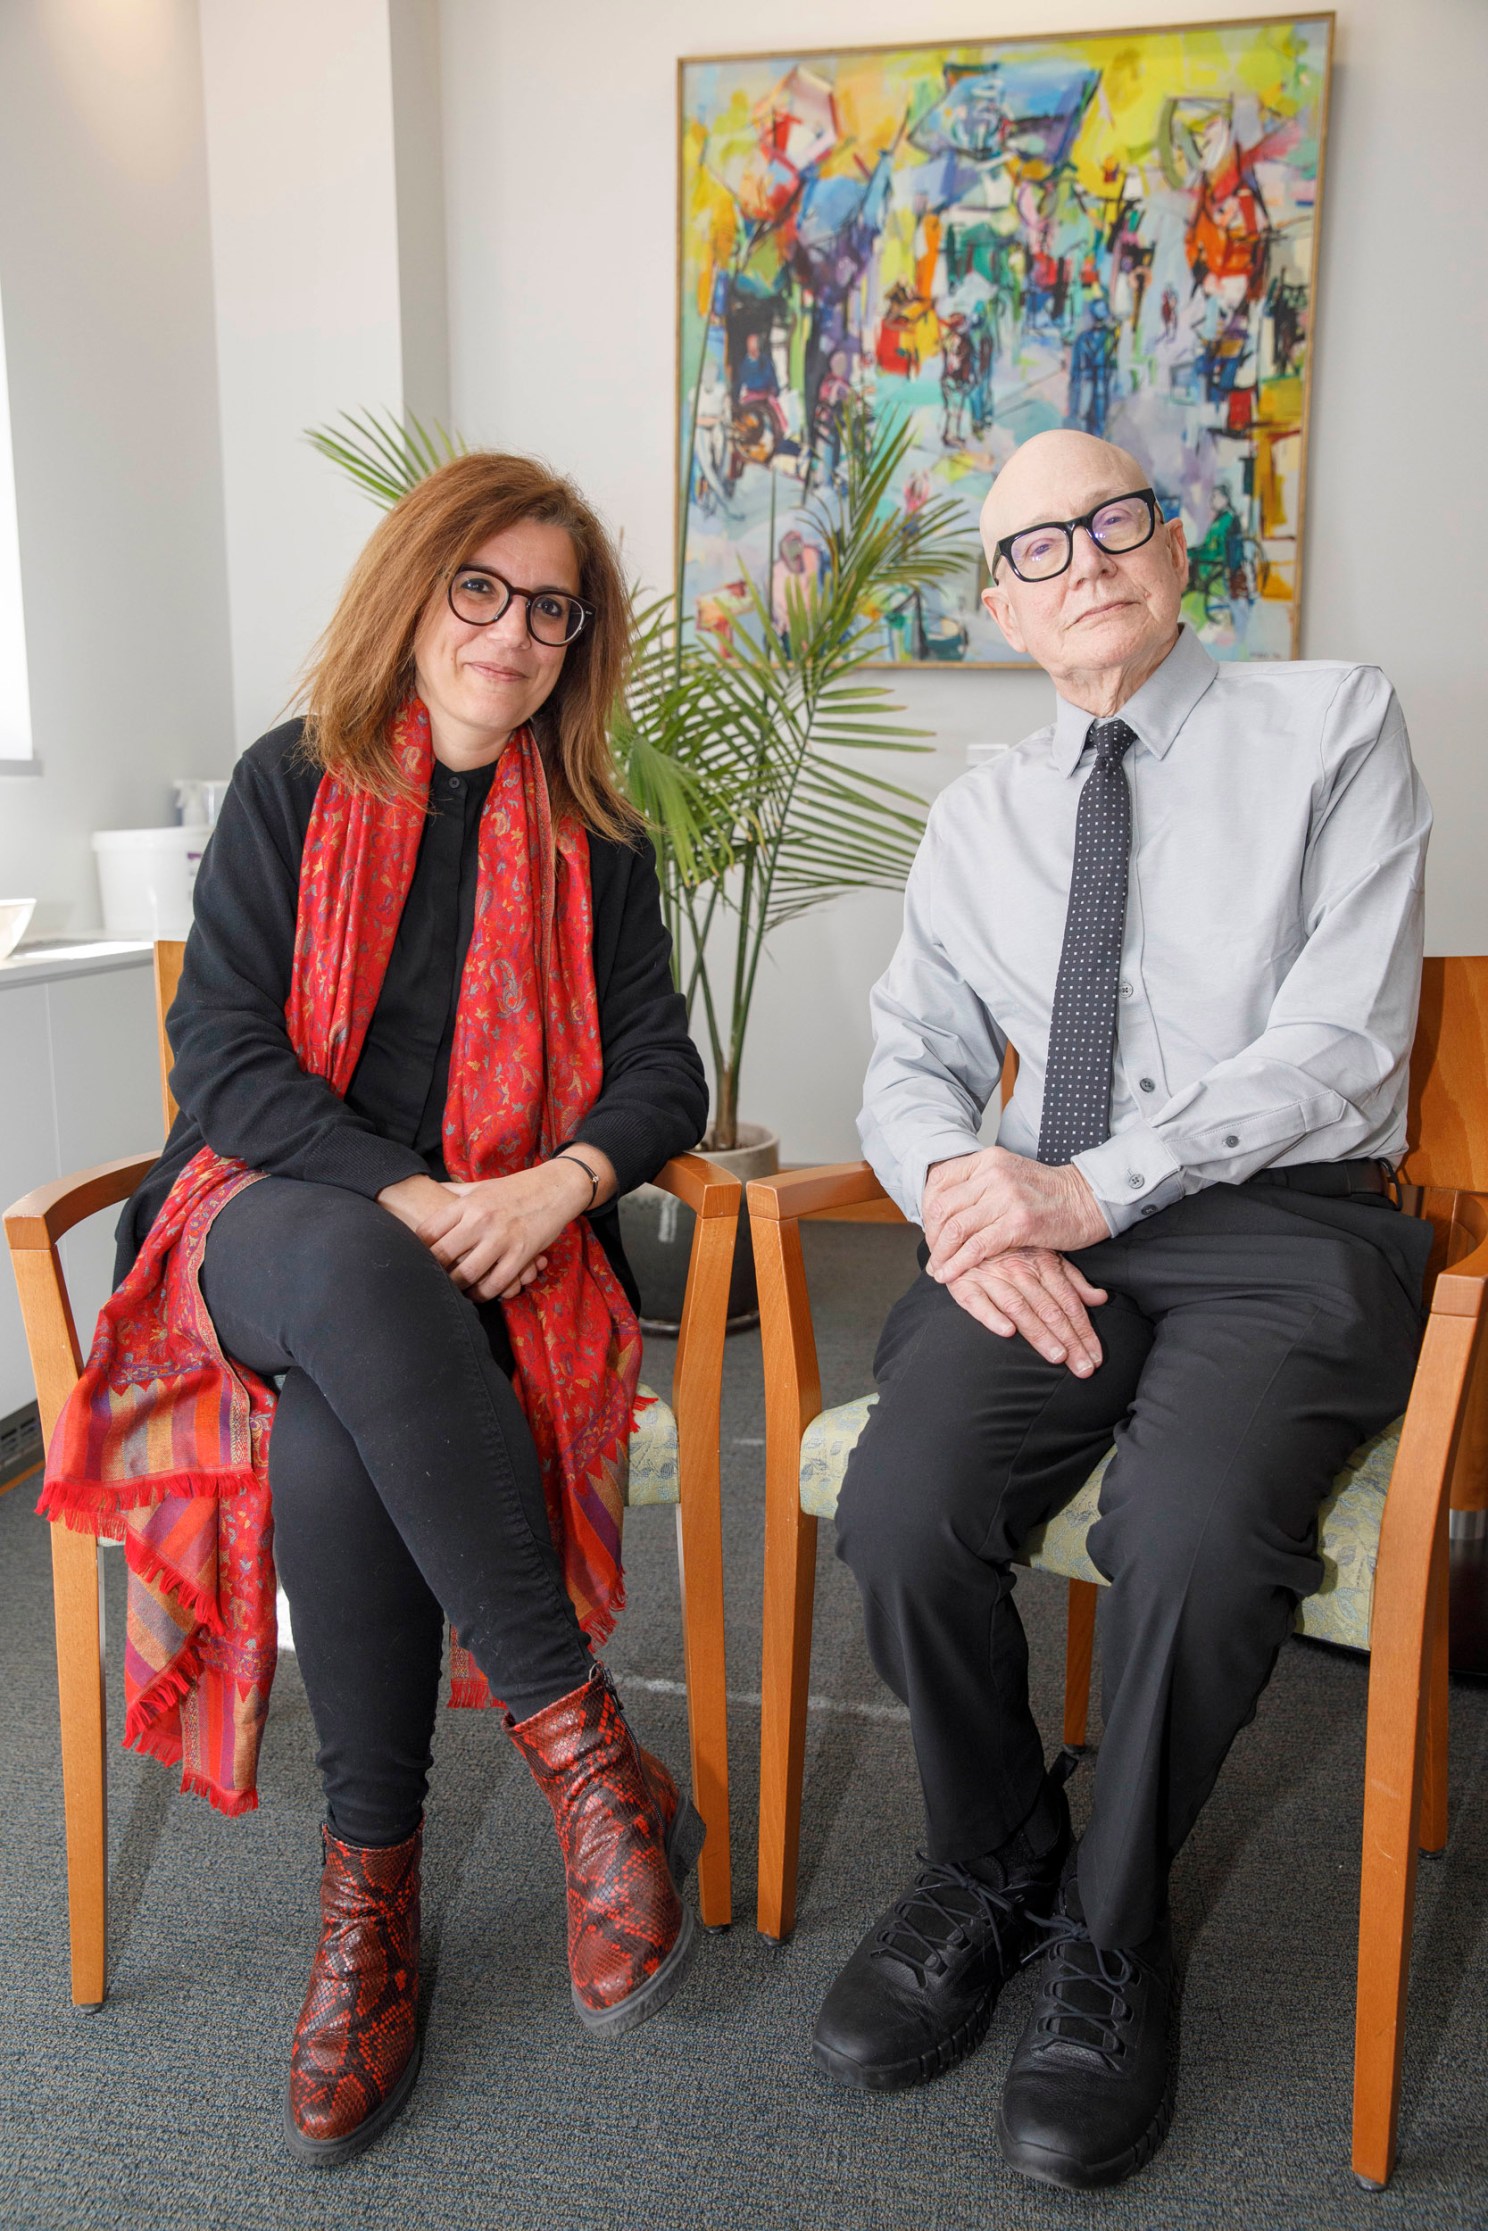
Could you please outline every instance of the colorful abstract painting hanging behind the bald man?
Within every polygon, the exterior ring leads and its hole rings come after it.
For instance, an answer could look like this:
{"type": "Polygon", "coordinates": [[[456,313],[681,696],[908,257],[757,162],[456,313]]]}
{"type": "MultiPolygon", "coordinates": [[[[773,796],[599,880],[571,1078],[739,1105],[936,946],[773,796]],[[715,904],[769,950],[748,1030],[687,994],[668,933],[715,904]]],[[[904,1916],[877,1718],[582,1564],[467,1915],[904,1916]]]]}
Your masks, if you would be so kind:
{"type": "MultiPolygon", "coordinates": [[[[680,65],[678,578],[725,645],[812,576],[846,428],[975,529],[1082,426],[1144,462],[1220,658],[1296,647],[1330,16],[680,65]],[[854,408],[854,399],[857,406],[854,408]]],[[[986,571],[886,609],[892,663],[1017,665],[986,571]]]]}

